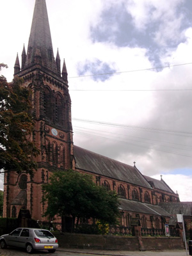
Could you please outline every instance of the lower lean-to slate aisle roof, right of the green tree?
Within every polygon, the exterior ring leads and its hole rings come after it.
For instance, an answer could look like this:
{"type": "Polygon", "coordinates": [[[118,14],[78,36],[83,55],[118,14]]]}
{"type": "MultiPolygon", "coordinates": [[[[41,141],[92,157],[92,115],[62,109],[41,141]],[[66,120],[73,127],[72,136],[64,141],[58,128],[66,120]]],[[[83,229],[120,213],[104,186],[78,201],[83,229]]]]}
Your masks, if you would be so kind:
{"type": "Polygon", "coordinates": [[[136,202],[136,201],[127,200],[127,199],[120,199],[119,208],[120,210],[123,210],[123,211],[170,217],[170,214],[167,211],[165,211],[163,208],[159,207],[159,205],[143,204],[141,202],[136,202]]]}

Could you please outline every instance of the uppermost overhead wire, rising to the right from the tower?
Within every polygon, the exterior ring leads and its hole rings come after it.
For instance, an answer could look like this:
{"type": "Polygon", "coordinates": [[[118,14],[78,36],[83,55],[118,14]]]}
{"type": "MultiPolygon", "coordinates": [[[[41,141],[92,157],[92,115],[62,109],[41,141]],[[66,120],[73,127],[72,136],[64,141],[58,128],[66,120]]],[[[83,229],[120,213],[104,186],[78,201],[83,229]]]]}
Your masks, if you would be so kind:
{"type": "Polygon", "coordinates": [[[155,70],[155,69],[161,69],[161,68],[171,68],[171,67],[178,67],[178,66],[191,65],[191,64],[192,64],[192,62],[182,63],[182,64],[175,64],[175,65],[168,65],[168,66],[161,66],[161,67],[154,67],[154,68],[142,68],[142,69],[119,71],[119,72],[109,72],[109,73],[102,73],[102,74],[92,74],[92,75],[84,75],[84,76],[73,76],[73,77],[68,77],[68,79],[79,78],[79,77],[91,77],[91,76],[106,76],[106,75],[131,73],[131,72],[141,72],[141,71],[146,71],[146,70],[155,70]]]}

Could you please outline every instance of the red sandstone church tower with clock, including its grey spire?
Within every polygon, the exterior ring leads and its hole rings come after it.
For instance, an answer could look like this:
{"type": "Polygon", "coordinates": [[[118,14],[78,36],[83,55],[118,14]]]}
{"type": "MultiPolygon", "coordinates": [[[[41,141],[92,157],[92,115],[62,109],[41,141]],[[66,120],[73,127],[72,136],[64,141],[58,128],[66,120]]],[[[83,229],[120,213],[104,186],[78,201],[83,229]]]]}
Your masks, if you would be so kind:
{"type": "Polygon", "coordinates": [[[52,172],[75,168],[67,68],[64,61],[61,72],[59,51],[54,59],[45,0],[35,1],[28,51],[23,48],[21,66],[17,55],[14,76],[22,77],[22,86],[32,92],[35,131],[31,138],[40,155],[33,175],[5,175],[4,217],[17,217],[20,209],[27,209],[31,218],[44,220],[42,184],[52,172]]]}

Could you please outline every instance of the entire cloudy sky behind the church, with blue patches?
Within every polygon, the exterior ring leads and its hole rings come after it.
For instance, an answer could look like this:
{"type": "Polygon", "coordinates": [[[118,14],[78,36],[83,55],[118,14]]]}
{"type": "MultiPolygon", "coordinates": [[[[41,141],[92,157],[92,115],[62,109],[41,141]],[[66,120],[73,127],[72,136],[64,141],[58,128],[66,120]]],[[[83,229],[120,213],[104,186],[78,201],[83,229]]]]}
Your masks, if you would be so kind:
{"type": "MultiPolygon", "coordinates": [[[[163,175],[192,201],[192,1],[46,2],[54,56],[59,49],[67,65],[74,144],[163,175]]],[[[34,6],[0,0],[8,81],[28,47],[34,6]]]]}

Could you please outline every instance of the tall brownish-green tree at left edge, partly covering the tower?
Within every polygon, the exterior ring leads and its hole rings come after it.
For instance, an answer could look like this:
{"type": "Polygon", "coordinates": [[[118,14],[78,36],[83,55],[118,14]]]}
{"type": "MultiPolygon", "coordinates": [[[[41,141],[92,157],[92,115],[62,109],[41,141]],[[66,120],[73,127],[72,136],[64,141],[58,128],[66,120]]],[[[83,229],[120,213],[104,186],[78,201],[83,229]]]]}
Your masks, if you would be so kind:
{"type": "MultiPolygon", "coordinates": [[[[0,64],[1,67],[7,67],[0,64]]],[[[30,92],[22,88],[23,80],[7,83],[0,76],[0,170],[32,173],[33,160],[39,150],[31,140],[34,122],[31,116],[30,92]]]]}

